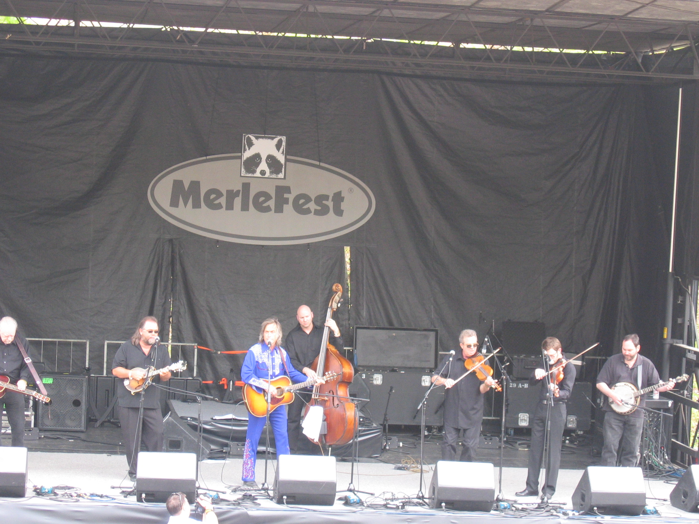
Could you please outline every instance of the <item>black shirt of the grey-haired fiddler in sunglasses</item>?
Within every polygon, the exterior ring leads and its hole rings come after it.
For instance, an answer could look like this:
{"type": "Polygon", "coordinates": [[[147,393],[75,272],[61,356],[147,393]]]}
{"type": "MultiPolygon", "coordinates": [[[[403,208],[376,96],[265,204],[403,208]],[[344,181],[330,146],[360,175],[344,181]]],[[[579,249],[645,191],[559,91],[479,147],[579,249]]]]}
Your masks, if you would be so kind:
{"type": "MultiPolygon", "coordinates": [[[[438,370],[441,370],[449,360],[449,355],[442,358],[438,370]]],[[[454,356],[451,366],[447,364],[446,369],[440,376],[445,379],[456,380],[466,373],[466,365],[463,354],[459,350],[458,356],[454,356]]],[[[452,428],[475,428],[481,425],[483,420],[483,393],[480,386],[483,384],[476,372],[468,374],[451,388],[447,388],[444,395],[444,423],[452,428]]]]}

